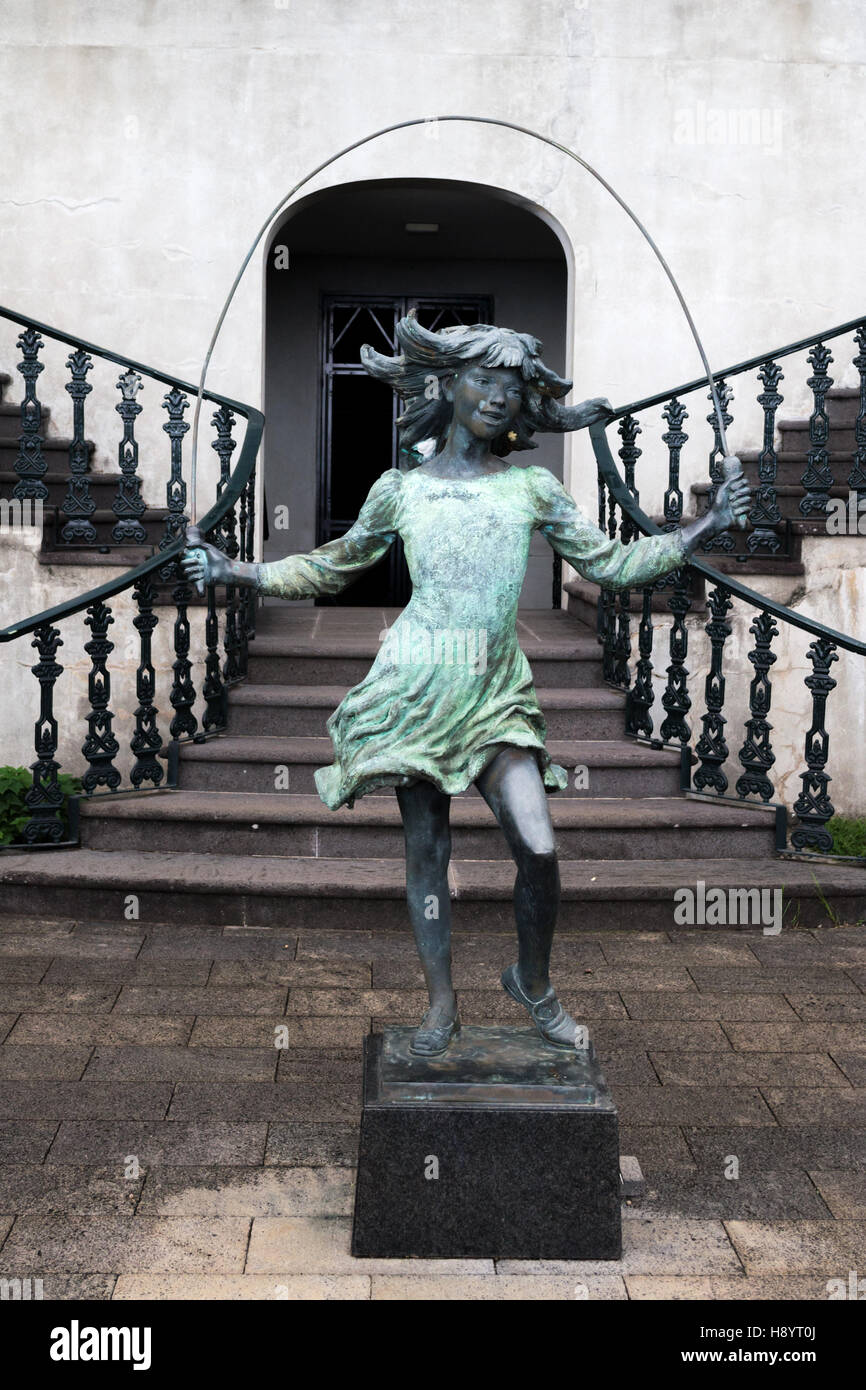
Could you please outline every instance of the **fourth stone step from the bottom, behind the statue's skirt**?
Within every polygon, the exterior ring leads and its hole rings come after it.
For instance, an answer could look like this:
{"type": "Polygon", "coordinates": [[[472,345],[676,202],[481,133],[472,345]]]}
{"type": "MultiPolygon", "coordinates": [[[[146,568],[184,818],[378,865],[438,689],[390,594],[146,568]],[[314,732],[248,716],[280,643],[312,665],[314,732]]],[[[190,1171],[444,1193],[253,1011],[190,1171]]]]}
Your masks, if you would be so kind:
{"type": "MultiPolygon", "coordinates": [[[[259,641],[259,638],[256,638],[259,641]]],[[[324,737],[346,685],[253,685],[229,691],[229,731],[243,738],[272,734],[324,737]]],[[[607,687],[542,687],[539,703],[549,738],[621,738],[626,698],[607,687]]]]}

